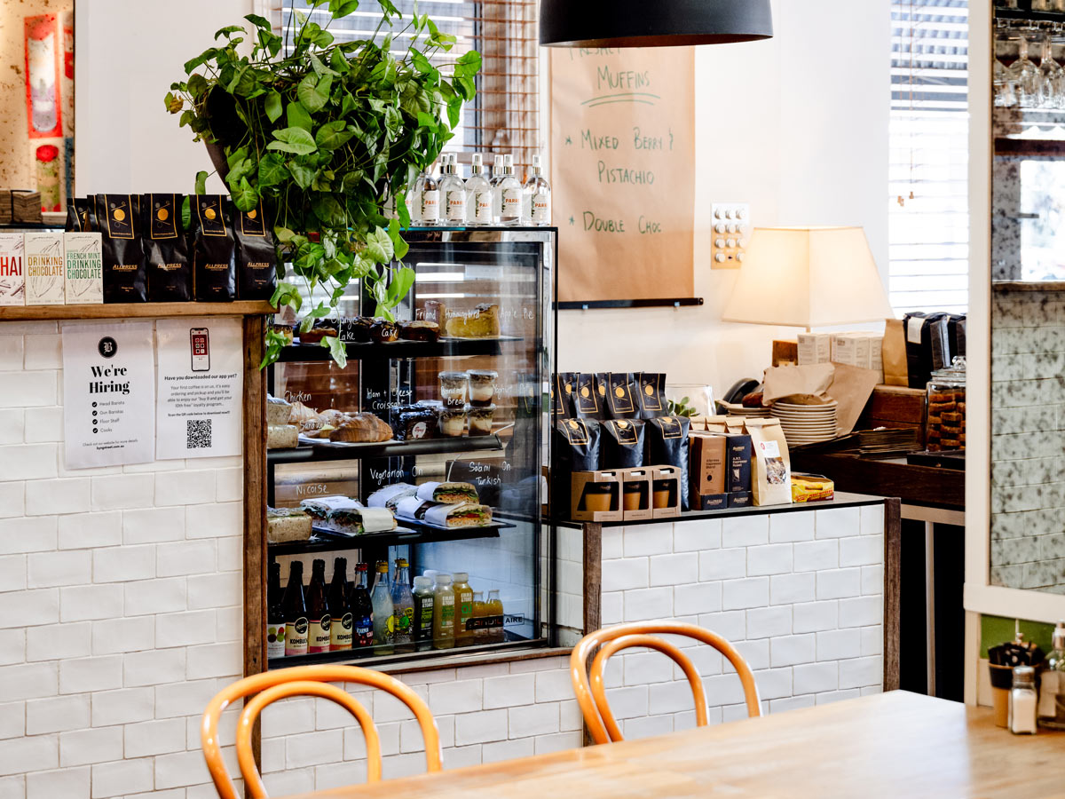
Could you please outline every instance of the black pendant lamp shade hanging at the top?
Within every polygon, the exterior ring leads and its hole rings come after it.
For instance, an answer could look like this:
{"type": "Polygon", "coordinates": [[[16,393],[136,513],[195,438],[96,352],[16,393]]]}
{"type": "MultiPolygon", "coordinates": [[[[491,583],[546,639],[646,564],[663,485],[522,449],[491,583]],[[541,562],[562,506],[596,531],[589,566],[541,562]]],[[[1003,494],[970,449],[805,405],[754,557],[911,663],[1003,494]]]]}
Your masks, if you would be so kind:
{"type": "Polygon", "coordinates": [[[773,35],[769,0],[541,0],[540,44],[667,47],[773,35]]]}

